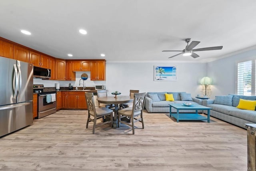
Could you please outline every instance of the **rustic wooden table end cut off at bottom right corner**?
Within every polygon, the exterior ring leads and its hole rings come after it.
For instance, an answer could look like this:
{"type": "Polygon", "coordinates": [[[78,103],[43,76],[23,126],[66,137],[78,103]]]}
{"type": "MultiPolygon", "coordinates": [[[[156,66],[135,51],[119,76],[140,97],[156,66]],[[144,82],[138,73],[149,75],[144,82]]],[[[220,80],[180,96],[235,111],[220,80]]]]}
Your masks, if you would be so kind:
{"type": "Polygon", "coordinates": [[[256,168],[256,124],[246,123],[247,128],[247,170],[253,171],[256,168]]]}

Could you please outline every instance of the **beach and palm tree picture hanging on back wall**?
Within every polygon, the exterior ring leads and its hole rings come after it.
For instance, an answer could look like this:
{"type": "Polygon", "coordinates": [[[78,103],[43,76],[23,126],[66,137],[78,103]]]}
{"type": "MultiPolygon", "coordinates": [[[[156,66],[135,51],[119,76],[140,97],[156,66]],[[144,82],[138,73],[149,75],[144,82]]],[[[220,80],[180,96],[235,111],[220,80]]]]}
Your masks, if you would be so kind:
{"type": "Polygon", "coordinates": [[[154,81],[177,81],[176,66],[154,66],[154,81]]]}

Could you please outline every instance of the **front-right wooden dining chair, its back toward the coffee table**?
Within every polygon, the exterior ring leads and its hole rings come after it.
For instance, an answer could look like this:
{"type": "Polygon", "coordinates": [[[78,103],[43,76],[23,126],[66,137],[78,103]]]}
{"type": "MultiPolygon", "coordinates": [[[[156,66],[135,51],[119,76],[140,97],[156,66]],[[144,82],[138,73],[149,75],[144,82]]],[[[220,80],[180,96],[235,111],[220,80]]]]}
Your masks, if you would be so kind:
{"type": "Polygon", "coordinates": [[[132,134],[134,134],[134,123],[140,121],[142,123],[142,129],[144,129],[142,113],[144,109],[145,99],[146,93],[134,93],[133,106],[118,110],[119,127],[120,123],[124,123],[125,125],[132,127],[132,134]],[[132,123],[130,124],[128,122],[122,121],[121,119],[123,117],[130,117],[132,123]]]}

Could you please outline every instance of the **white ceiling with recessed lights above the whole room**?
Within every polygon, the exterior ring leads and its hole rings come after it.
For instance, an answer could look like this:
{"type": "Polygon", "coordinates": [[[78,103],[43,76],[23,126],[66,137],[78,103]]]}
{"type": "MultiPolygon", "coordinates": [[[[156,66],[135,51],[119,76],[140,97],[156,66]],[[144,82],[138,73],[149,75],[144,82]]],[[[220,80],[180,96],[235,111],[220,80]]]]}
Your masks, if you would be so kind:
{"type": "Polygon", "coordinates": [[[256,47],[256,0],[0,0],[0,36],[63,59],[207,62],[256,47]],[[223,49],[161,52],[186,38],[223,49]]]}

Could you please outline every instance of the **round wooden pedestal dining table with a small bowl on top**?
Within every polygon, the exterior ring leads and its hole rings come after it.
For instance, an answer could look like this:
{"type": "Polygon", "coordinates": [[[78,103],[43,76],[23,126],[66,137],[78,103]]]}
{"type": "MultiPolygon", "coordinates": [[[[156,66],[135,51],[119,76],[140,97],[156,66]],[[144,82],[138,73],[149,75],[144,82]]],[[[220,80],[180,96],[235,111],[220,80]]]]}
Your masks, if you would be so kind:
{"type": "Polygon", "coordinates": [[[129,95],[118,95],[116,98],[115,96],[111,95],[111,96],[105,96],[105,97],[98,97],[97,100],[100,103],[115,105],[113,127],[116,128],[118,126],[117,124],[118,104],[130,103],[133,101],[133,98],[131,98],[129,95]]]}

